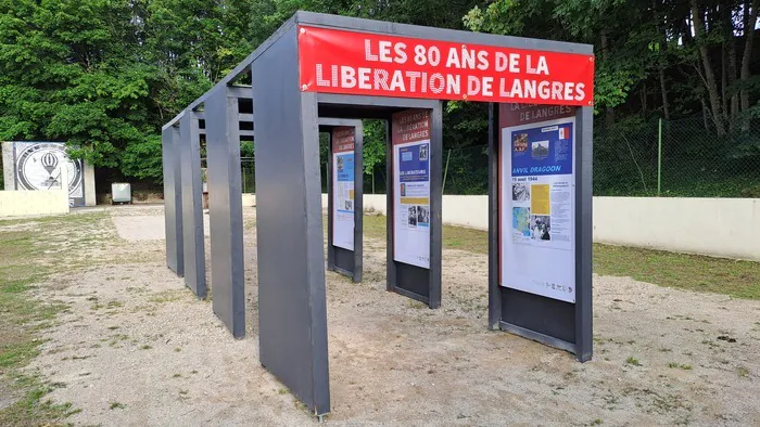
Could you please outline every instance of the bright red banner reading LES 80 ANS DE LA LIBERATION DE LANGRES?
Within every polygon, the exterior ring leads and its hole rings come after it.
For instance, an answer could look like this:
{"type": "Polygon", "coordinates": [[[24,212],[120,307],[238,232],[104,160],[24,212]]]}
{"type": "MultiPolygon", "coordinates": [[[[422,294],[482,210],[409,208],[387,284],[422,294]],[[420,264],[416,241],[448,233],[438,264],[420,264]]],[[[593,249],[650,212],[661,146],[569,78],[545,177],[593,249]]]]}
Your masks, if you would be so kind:
{"type": "Polygon", "coordinates": [[[593,105],[594,56],[302,26],[301,90],[593,105]]]}

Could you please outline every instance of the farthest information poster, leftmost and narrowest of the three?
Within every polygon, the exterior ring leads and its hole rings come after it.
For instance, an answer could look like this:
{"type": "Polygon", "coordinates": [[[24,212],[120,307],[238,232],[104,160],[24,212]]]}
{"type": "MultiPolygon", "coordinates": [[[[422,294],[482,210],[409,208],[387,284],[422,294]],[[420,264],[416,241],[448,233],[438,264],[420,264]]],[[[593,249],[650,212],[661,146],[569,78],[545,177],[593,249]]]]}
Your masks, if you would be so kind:
{"type": "Polygon", "coordinates": [[[332,130],[332,245],[354,250],[354,128],[332,130]]]}

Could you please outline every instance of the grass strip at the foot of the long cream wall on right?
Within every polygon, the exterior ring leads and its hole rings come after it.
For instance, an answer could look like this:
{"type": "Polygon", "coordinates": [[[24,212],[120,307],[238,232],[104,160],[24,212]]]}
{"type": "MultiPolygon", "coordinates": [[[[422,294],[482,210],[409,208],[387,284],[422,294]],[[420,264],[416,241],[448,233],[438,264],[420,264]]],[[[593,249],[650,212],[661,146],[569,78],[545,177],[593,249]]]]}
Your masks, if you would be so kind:
{"type": "MultiPolygon", "coordinates": [[[[365,215],[365,235],[384,241],[385,221],[384,216],[365,215]]],[[[487,233],[444,225],[443,248],[487,254],[487,233]]],[[[760,299],[760,262],[594,244],[594,272],[631,276],[660,286],[760,299]]]]}

